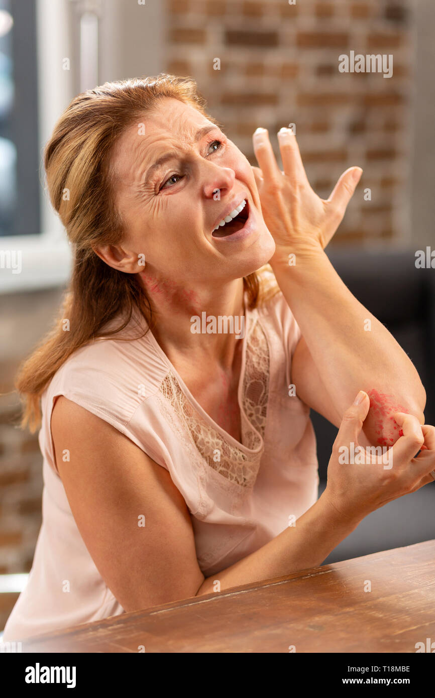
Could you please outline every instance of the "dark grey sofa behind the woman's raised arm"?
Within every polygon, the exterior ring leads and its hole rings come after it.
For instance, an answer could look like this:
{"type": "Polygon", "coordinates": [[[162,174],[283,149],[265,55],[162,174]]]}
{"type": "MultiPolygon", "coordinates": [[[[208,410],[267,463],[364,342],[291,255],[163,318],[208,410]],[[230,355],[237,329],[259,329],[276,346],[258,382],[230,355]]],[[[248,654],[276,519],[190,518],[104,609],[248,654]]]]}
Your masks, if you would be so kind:
{"type": "MultiPolygon", "coordinates": [[[[415,250],[395,252],[327,248],[353,295],[395,337],[418,370],[427,393],[425,422],[435,424],[435,269],[415,267],[415,250]]],[[[317,438],[320,487],[337,429],[311,411],[317,438]]],[[[366,517],[324,563],[346,560],[435,538],[435,483],[366,517]]]]}

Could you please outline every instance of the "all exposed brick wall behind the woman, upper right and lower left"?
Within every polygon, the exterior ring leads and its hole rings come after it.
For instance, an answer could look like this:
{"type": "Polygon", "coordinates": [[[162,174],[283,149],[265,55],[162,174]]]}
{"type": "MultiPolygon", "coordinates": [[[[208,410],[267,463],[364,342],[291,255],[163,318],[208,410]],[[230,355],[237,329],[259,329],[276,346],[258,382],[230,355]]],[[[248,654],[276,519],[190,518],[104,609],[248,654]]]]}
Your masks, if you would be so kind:
{"type": "MultiPolygon", "coordinates": [[[[165,0],[162,70],[198,80],[209,110],[255,164],[257,126],[296,124],[311,184],[324,197],[350,165],[362,183],[335,238],[400,239],[408,216],[413,2],[408,0],[165,0]],[[350,50],[392,53],[394,75],[345,75],[350,50]],[[214,70],[214,59],[221,70],[214,70]],[[372,189],[364,202],[362,189],[372,189]]],[[[2,297],[0,326],[0,574],[28,572],[40,526],[42,456],[37,434],[17,428],[13,377],[50,326],[59,290],[2,297]]],[[[12,597],[0,603],[0,630],[12,597]]],[[[15,600],[15,597],[13,597],[15,600]]]]}

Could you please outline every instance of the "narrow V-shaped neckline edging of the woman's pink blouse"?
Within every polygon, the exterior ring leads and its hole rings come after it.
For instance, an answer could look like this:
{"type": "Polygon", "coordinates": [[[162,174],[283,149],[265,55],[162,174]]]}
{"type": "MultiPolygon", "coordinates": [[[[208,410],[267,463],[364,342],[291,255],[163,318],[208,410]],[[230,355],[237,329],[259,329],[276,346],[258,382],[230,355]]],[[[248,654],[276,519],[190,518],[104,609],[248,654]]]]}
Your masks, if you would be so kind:
{"type": "MultiPolygon", "coordinates": [[[[228,443],[231,443],[234,445],[239,451],[245,452],[246,454],[258,454],[262,449],[263,449],[263,436],[261,436],[260,432],[258,429],[256,429],[253,424],[249,421],[248,417],[246,416],[246,412],[244,410],[243,406],[243,399],[242,399],[242,393],[243,393],[243,386],[244,386],[244,378],[245,378],[245,373],[246,373],[246,348],[247,348],[247,342],[248,342],[248,337],[251,332],[251,323],[252,323],[252,315],[256,313],[256,309],[250,309],[249,305],[245,302],[245,312],[244,312],[244,336],[242,337],[242,365],[240,366],[240,375],[239,375],[239,383],[237,386],[237,403],[239,406],[240,410],[240,416],[242,419],[245,419],[246,423],[249,424],[250,428],[253,429],[253,431],[256,432],[256,434],[259,437],[259,445],[258,448],[256,449],[251,449],[242,444],[240,441],[235,439],[233,436],[231,436],[228,431],[225,431],[220,424],[214,421],[212,417],[202,408],[200,403],[195,399],[189,388],[187,387],[186,383],[184,383],[184,380],[182,377],[179,375],[177,369],[175,369],[175,366],[170,362],[170,359],[168,356],[165,354],[163,349],[161,348],[160,344],[156,340],[154,334],[152,333],[151,329],[148,329],[148,332],[145,336],[149,336],[149,340],[151,341],[152,345],[154,346],[154,350],[158,353],[158,355],[161,357],[163,362],[168,366],[168,369],[170,369],[171,373],[177,378],[177,381],[179,383],[180,388],[182,389],[182,392],[184,393],[184,396],[189,400],[193,408],[197,410],[197,412],[200,414],[202,419],[205,420],[208,424],[212,426],[212,428],[217,431],[219,434],[221,434],[223,440],[227,441],[228,443]]],[[[240,341],[240,340],[239,340],[240,341]]],[[[267,396],[267,401],[269,400],[269,396],[267,396]]],[[[241,428],[242,428],[242,422],[241,422],[241,428]]]]}

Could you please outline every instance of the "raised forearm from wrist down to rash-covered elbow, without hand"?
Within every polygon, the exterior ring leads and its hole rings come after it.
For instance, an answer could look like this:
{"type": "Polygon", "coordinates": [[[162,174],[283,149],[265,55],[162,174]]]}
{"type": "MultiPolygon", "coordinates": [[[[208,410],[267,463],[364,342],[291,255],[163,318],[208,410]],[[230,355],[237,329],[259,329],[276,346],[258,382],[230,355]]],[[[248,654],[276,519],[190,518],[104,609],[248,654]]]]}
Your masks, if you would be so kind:
{"type": "Polygon", "coordinates": [[[425,389],[404,350],[355,299],[324,251],[295,255],[294,266],[284,255],[272,266],[340,417],[362,389],[371,398],[364,431],[373,443],[379,443],[378,431],[390,429],[396,411],[422,422],[425,389]]]}

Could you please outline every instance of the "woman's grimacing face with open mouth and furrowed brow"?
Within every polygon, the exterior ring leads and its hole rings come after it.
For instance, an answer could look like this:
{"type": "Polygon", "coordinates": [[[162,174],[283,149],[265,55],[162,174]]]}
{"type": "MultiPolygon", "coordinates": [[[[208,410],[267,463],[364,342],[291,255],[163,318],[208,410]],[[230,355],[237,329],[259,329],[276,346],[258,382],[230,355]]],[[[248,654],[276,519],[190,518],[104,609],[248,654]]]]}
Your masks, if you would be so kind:
{"type": "Polygon", "coordinates": [[[207,288],[246,276],[272,257],[275,244],[251,165],[193,107],[162,99],[121,135],[112,167],[126,223],[121,246],[132,259],[145,255],[144,279],[207,288]],[[214,230],[244,201],[234,221],[214,230]]]}

